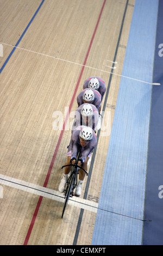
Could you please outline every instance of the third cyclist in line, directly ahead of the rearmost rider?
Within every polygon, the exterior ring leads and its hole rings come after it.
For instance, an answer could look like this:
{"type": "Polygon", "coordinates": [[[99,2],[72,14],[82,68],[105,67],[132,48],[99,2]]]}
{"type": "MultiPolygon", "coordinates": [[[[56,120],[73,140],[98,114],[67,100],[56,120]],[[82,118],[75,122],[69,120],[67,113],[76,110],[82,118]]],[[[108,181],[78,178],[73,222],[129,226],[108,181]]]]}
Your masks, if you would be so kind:
{"type": "Polygon", "coordinates": [[[78,107],[83,103],[93,104],[99,111],[101,107],[101,94],[97,90],[86,88],[77,96],[77,103],[78,107]]]}

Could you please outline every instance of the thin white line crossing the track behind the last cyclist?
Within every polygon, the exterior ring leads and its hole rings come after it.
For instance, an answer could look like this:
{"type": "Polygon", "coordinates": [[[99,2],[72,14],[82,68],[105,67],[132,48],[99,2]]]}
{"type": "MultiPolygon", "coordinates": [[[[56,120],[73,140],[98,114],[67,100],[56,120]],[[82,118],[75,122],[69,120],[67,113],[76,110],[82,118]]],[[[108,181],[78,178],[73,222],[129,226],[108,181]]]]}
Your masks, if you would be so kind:
{"type": "MultiPolygon", "coordinates": [[[[79,63],[76,63],[76,62],[71,62],[70,60],[57,58],[57,57],[54,57],[54,56],[51,56],[51,55],[48,55],[48,54],[44,54],[44,53],[40,53],[40,52],[31,51],[31,50],[28,50],[28,49],[26,49],[26,48],[21,48],[21,47],[18,47],[18,46],[5,44],[4,42],[0,42],[0,44],[2,44],[2,45],[7,45],[7,46],[11,46],[11,47],[14,47],[14,48],[18,48],[18,49],[21,49],[21,50],[23,50],[23,51],[33,52],[33,53],[40,54],[40,55],[42,55],[42,56],[46,56],[46,57],[49,57],[49,58],[54,58],[54,59],[62,60],[62,61],[64,61],[64,62],[68,62],[68,63],[71,63],[71,64],[76,64],[76,65],[79,65],[79,66],[85,66],[86,68],[95,69],[95,70],[102,71],[102,72],[105,72],[105,73],[108,73],[108,74],[112,74],[112,75],[115,75],[115,76],[121,76],[121,77],[128,78],[128,79],[131,79],[131,80],[134,80],[134,81],[137,81],[137,82],[152,84],[152,85],[154,85],[154,86],[160,86],[160,83],[149,83],[149,82],[142,81],[142,80],[139,80],[139,79],[136,79],[136,78],[132,78],[132,77],[128,77],[128,76],[119,75],[119,74],[116,74],[116,73],[113,73],[113,72],[110,72],[110,71],[105,71],[105,70],[102,70],[102,69],[92,68],[91,66],[86,66],[86,65],[79,64],[79,63]]],[[[107,61],[112,62],[112,60],[107,60],[107,61]]],[[[117,63],[117,62],[112,62],[112,63],[117,63]]]]}

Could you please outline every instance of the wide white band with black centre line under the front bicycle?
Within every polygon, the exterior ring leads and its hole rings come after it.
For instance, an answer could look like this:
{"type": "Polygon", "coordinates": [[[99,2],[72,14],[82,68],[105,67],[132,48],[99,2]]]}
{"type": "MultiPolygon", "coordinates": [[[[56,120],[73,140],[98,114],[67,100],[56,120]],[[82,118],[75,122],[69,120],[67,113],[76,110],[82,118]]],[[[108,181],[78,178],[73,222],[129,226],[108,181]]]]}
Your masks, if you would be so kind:
{"type": "MultiPolygon", "coordinates": [[[[0,174],[0,184],[2,186],[4,185],[14,187],[17,188],[18,190],[22,190],[32,194],[37,194],[38,196],[56,200],[61,203],[64,203],[65,200],[63,193],[60,193],[59,191],[55,191],[47,187],[42,187],[27,181],[18,180],[3,174],[0,174]]],[[[98,203],[91,202],[90,200],[86,200],[75,196],[69,199],[68,204],[92,212],[97,212],[98,209],[98,203]]]]}

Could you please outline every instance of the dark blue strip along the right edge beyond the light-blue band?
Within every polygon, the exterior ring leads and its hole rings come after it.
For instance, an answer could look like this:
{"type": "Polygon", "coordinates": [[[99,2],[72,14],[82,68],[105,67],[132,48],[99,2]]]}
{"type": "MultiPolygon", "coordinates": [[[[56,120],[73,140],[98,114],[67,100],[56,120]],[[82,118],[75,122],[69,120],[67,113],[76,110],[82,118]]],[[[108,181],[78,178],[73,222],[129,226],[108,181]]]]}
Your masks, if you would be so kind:
{"type": "Polygon", "coordinates": [[[152,92],[151,123],[149,132],[148,168],[143,245],[163,245],[163,1],[159,1],[156,32],[152,92]],[[160,45],[162,44],[162,46],[160,45]],[[159,45],[161,48],[159,48],[159,45]]]}

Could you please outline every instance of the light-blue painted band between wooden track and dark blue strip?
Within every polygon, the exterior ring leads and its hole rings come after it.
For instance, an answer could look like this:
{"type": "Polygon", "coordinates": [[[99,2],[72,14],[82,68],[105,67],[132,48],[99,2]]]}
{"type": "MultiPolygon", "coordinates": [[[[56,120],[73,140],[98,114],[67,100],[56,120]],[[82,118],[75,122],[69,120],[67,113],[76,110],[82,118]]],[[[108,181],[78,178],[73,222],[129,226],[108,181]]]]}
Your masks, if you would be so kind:
{"type": "MultiPolygon", "coordinates": [[[[136,0],[123,76],[152,83],[158,0],[136,0]]],[[[152,85],[122,77],[92,245],[141,245],[152,85]]]]}

